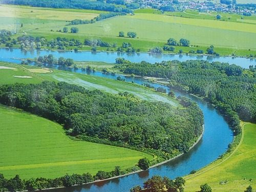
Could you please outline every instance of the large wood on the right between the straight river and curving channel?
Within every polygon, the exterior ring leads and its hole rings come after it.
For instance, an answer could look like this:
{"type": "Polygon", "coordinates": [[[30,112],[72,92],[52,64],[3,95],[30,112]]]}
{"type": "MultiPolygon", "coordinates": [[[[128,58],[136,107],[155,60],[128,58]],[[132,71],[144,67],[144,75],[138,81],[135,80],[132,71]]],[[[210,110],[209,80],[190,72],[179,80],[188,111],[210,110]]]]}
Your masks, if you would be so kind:
{"type": "Polygon", "coordinates": [[[256,122],[256,69],[245,70],[228,63],[185,62],[131,63],[116,65],[124,73],[170,79],[169,87],[206,98],[217,106],[234,129],[241,132],[239,118],[256,122]]]}

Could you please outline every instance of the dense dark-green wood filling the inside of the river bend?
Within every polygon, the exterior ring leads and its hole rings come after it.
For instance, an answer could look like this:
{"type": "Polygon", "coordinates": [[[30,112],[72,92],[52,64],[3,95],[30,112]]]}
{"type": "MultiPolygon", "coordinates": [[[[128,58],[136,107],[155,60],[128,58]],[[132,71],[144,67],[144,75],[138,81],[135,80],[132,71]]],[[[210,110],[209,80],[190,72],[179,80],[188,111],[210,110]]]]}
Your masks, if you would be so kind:
{"type": "Polygon", "coordinates": [[[198,105],[177,99],[182,107],[143,101],[127,92],[88,91],[65,82],[0,87],[1,103],[63,124],[71,136],[151,152],[160,156],[159,161],[187,152],[202,133],[198,105]]]}

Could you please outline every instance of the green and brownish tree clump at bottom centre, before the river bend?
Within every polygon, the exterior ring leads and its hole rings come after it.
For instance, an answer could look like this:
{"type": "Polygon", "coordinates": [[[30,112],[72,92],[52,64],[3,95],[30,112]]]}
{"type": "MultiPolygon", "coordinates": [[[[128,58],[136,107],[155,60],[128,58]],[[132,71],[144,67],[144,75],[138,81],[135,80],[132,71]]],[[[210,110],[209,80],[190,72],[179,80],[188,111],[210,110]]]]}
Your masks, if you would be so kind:
{"type": "Polygon", "coordinates": [[[167,177],[161,177],[158,175],[152,176],[152,178],[146,180],[143,183],[143,188],[140,185],[130,189],[130,192],[142,192],[142,191],[184,191],[185,180],[182,177],[177,177],[175,180],[167,177]]]}

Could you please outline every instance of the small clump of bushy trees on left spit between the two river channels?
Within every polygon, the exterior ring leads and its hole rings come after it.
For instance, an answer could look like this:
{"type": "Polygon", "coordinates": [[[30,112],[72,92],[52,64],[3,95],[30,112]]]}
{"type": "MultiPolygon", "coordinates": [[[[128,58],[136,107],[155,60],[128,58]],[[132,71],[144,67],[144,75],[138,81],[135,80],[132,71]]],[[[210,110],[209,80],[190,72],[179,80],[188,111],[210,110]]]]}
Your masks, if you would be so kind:
{"type": "Polygon", "coordinates": [[[28,63],[35,62],[35,63],[44,63],[49,65],[58,65],[58,66],[66,66],[66,67],[70,67],[74,64],[74,60],[71,58],[66,59],[64,57],[59,57],[57,59],[53,57],[52,54],[45,55],[44,57],[39,56],[39,57],[36,57],[35,59],[28,58],[27,61],[28,63]]]}

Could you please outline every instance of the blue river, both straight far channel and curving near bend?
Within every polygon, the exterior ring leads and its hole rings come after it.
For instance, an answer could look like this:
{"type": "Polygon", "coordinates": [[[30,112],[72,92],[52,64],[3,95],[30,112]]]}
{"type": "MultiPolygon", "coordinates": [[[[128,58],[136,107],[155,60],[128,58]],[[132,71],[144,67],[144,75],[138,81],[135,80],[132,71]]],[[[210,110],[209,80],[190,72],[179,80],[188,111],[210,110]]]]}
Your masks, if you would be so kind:
{"type": "MultiPolygon", "coordinates": [[[[117,57],[123,57],[131,61],[148,61],[151,63],[159,62],[162,60],[187,60],[187,59],[200,59],[197,56],[179,56],[179,55],[162,55],[154,56],[147,53],[140,53],[127,55],[118,53],[92,53],[92,52],[57,52],[57,51],[21,51],[19,49],[6,50],[0,49],[0,60],[20,63],[20,60],[17,58],[34,58],[38,56],[53,54],[55,57],[63,56],[65,58],[73,58],[74,60],[83,60],[83,61],[105,61],[105,62],[115,62],[117,57]]],[[[201,59],[207,60],[206,56],[202,56],[201,59]]],[[[208,58],[209,59],[209,58],[208,58]]],[[[256,65],[255,60],[246,59],[246,58],[231,58],[231,57],[212,57],[210,61],[220,61],[228,62],[230,64],[235,63],[240,65],[243,68],[248,68],[249,65],[256,65]]],[[[54,66],[53,66],[54,67],[54,66]]],[[[77,73],[87,73],[86,71],[81,71],[80,69],[74,70],[70,68],[61,68],[54,67],[59,70],[68,70],[77,73]]],[[[117,76],[102,74],[100,72],[90,73],[91,75],[107,77],[116,79],[117,76]]],[[[135,83],[142,84],[143,82],[149,83],[147,80],[141,77],[124,77],[126,81],[134,81],[135,83]]],[[[151,83],[156,88],[161,86],[167,90],[167,87],[162,86],[157,83],[151,83]]],[[[192,148],[187,154],[180,156],[179,158],[167,162],[158,167],[154,167],[150,170],[140,172],[138,174],[132,174],[129,176],[112,179],[109,181],[97,182],[94,184],[87,184],[82,186],[74,186],[70,188],[59,188],[52,189],[53,192],[60,191],[130,191],[130,188],[136,185],[143,185],[143,182],[148,178],[151,178],[153,175],[167,176],[171,179],[175,179],[178,176],[185,176],[190,173],[191,170],[198,170],[210,162],[216,160],[221,154],[227,150],[227,146],[232,142],[232,132],[229,129],[227,123],[224,121],[223,117],[217,113],[217,111],[209,104],[203,100],[180,92],[175,91],[176,96],[183,95],[189,97],[190,99],[196,101],[203,111],[204,114],[204,135],[200,142],[192,148]]]]}

